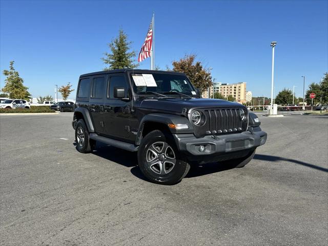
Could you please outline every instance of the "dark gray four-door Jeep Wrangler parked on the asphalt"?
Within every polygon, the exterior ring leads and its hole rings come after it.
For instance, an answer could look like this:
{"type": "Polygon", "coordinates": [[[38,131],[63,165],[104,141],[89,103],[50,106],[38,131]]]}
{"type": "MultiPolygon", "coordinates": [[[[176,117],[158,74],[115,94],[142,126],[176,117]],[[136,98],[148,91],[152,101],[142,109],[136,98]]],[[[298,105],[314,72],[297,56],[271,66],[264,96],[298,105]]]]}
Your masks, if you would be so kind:
{"type": "Polygon", "coordinates": [[[164,71],[81,75],[72,125],[79,152],[96,141],[137,151],[141,172],[165,185],[185,177],[192,163],[243,167],[267,140],[243,105],[201,98],[185,74],[164,71]]]}

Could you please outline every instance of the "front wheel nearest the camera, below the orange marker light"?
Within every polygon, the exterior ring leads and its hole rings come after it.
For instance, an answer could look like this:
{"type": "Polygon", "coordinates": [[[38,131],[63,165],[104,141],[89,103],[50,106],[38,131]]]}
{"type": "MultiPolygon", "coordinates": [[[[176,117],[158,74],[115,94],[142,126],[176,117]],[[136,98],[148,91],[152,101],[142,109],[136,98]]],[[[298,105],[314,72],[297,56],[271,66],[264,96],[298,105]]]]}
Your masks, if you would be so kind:
{"type": "Polygon", "coordinates": [[[174,185],[190,169],[189,163],[180,159],[172,136],[159,130],[148,133],[142,139],[138,163],[147,179],[161,185],[174,185]]]}

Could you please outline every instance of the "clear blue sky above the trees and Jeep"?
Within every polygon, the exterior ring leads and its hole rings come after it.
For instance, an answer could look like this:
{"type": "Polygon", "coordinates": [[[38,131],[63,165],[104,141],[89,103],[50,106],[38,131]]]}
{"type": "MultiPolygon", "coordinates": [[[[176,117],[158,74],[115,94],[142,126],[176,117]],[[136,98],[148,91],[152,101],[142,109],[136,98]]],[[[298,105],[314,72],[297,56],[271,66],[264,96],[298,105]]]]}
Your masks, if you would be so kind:
{"type": "MultiPolygon", "coordinates": [[[[139,53],[155,12],[155,63],[195,53],[213,78],[247,82],[253,96],[319,82],[328,70],[328,1],[1,1],[0,68],[15,68],[33,97],[104,68],[107,43],[122,27],[139,53]]],[[[136,57],[137,59],[137,57],[136,57]]],[[[150,68],[150,58],[139,68],[150,68]]],[[[0,87],[5,77],[0,76],[0,87]]],[[[75,92],[70,96],[75,97],[75,92]]]]}

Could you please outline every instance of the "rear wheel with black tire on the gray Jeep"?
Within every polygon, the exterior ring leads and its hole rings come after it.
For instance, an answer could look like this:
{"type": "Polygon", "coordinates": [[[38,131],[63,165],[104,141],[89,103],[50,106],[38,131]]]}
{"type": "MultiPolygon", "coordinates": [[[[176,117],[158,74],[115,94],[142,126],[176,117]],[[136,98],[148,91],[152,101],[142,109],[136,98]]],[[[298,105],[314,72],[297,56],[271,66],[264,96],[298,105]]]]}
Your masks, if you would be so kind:
{"type": "Polygon", "coordinates": [[[89,153],[95,147],[95,141],[89,139],[88,128],[83,119],[77,121],[75,128],[76,149],[81,153],[89,153]]]}

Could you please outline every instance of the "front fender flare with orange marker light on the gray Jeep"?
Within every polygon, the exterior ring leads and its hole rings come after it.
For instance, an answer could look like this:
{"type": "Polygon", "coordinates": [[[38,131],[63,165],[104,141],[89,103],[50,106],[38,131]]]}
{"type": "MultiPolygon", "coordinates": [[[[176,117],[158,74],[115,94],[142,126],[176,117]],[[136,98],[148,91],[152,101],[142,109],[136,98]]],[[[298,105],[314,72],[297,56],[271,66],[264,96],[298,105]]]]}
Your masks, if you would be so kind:
{"type": "Polygon", "coordinates": [[[147,122],[153,122],[154,124],[160,123],[163,125],[166,125],[167,128],[170,130],[172,134],[180,134],[180,133],[193,133],[194,129],[191,124],[191,122],[182,115],[174,115],[174,114],[165,114],[165,113],[151,113],[145,115],[139,124],[137,137],[135,140],[136,145],[140,145],[141,139],[142,139],[142,131],[144,131],[144,126],[147,122]],[[187,124],[188,129],[172,129],[169,128],[169,124],[187,124]]]}

